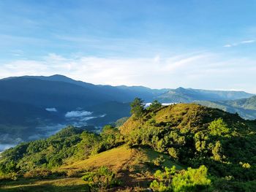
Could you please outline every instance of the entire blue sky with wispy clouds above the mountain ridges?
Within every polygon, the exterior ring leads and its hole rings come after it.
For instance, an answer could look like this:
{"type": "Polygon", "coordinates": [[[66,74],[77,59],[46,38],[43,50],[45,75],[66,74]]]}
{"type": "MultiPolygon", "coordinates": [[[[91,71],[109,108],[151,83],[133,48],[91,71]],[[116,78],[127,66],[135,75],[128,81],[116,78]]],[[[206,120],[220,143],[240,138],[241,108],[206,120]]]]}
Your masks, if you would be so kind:
{"type": "Polygon", "coordinates": [[[256,93],[256,1],[1,0],[0,78],[256,93]]]}

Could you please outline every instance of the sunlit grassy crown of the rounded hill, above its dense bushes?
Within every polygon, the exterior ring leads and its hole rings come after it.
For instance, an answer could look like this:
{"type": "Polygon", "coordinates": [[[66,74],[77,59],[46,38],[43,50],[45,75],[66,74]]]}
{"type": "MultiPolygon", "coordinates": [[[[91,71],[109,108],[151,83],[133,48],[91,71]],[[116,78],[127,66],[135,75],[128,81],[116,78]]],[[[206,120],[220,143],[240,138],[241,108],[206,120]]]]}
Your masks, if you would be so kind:
{"type": "Polygon", "coordinates": [[[150,115],[147,113],[143,118],[137,120],[129,118],[120,127],[120,131],[121,134],[129,134],[134,129],[150,126],[151,120],[154,120],[155,126],[158,124],[159,127],[168,126],[171,128],[186,128],[197,131],[198,128],[206,128],[208,123],[211,123],[212,120],[217,118],[223,118],[227,123],[244,121],[236,115],[198,104],[172,104],[162,107],[154,114],[150,115]]]}

